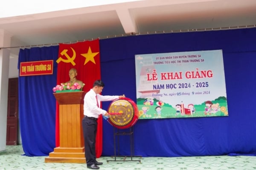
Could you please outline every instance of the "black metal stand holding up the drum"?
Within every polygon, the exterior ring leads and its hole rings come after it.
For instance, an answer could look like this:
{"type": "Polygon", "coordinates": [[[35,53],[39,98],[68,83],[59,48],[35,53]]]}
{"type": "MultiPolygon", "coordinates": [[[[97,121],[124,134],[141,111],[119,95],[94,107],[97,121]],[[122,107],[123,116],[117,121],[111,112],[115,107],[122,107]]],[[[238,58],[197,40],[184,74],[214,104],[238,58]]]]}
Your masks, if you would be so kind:
{"type": "Polygon", "coordinates": [[[129,131],[123,131],[119,130],[115,127],[113,127],[114,131],[114,156],[111,156],[111,158],[114,158],[114,160],[107,160],[107,163],[109,161],[139,161],[141,163],[141,158],[142,156],[134,156],[134,132],[133,132],[133,127],[129,128],[129,131]],[[119,136],[120,135],[130,135],[130,149],[131,149],[131,155],[130,156],[120,156],[119,154],[119,149],[120,149],[120,143],[119,143],[119,136]],[[118,150],[118,155],[116,155],[116,138],[117,138],[117,150],[118,150]],[[116,160],[116,157],[123,157],[122,160],[116,160]],[[140,159],[134,160],[133,158],[139,157],[140,159]],[[131,158],[131,159],[126,159],[126,158],[131,158]]]}

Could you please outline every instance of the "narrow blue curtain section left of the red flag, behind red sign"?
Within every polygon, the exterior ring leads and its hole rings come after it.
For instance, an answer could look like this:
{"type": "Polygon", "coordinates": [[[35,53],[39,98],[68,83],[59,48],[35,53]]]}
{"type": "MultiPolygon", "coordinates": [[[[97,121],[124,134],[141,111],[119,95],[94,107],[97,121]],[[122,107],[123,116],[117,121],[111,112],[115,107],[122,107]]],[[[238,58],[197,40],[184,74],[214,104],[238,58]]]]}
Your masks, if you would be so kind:
{"type": "Polygon", "coordinates": [[[55,147],[58,46],[20,49],[20,62],[53,60],[52,75],[19,77],[20,134],[26,156],[47,156],[55,147]]]}

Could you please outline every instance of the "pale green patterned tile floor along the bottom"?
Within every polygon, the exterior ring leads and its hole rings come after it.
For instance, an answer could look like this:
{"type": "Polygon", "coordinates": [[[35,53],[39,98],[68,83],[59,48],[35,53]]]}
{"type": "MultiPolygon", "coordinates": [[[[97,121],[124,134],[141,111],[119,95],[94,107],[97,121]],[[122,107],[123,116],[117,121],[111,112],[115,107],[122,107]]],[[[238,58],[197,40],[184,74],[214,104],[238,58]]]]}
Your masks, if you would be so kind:
{"type": "MultiPolygon", "coordinates": [[[[86,164],[45,163],[45,156],[27,157],[22,154],[21,145],[7,146],[6,151],[0,153],[0,170],[87,170],[86,164]]],[[[103,162],[99,166],[100,170],[256,170],[256,156],[133,158],[141,162],[109,160],[114,159],[98,158],[98,161],[103,162]]]]}

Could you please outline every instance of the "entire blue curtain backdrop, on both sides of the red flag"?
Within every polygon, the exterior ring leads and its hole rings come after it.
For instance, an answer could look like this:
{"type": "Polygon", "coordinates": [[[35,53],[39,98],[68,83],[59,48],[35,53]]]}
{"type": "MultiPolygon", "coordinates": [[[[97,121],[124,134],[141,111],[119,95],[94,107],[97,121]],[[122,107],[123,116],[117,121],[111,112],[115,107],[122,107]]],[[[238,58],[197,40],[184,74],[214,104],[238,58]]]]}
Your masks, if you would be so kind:
{"type": "MultiPolygon", "coordinates": [[[[58,47],[44,48],[20,50],[19,61],[55,61],[58,47]]],[[[102,95],[125,94],[133,101],[135,55],[216,49],[223,50],[229,116],[138,120],[134,125],[135,155],[256,155],[256,28],[100,40],[102,95]]],[[[28,156],[45,156],[55,147],[54,64],[53,75],[19,78],[20,130],[28,156]]],[[[103,109],[110,103],[102,102],[103,109]]],[[[128,135],[119,136],[119,145],[120,155],[130,155],[128,135]]],[[[102,156],[113,154],[113,127],[103,120],[102,156]]]]}

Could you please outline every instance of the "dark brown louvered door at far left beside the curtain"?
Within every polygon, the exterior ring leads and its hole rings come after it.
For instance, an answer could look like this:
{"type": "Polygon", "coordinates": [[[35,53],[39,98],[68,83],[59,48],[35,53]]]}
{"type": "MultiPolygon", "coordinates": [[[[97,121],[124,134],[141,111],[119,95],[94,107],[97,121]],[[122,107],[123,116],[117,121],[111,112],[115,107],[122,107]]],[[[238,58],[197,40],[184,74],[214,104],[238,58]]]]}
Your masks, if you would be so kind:
{"type": "Polygon", "coordinates": [[[17,145],[18,78],[9,78],[6,145],[17,145]]]}

